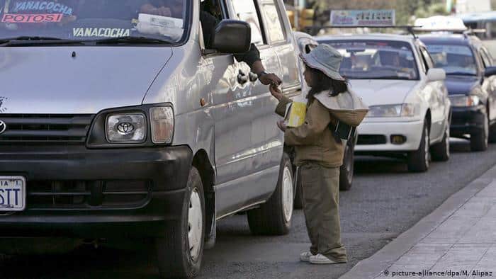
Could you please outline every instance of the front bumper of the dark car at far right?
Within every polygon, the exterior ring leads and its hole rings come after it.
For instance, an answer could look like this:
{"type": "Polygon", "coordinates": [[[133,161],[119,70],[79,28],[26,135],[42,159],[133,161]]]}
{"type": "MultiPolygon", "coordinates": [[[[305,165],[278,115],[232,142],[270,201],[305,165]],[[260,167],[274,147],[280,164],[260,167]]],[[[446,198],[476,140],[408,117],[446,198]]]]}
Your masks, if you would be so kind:
{"type": "Polygon", "coordinates": [[[485,107],[452,108],[450,132],[452,137],[478,132],[484,129],[485,107]]]}

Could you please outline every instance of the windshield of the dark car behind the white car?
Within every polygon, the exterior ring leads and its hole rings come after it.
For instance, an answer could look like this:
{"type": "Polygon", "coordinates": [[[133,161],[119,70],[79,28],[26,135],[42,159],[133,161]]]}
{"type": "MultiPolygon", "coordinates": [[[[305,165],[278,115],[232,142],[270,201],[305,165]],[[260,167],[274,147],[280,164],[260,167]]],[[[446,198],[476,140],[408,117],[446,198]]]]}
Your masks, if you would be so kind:
{"type": "Polygon", "coordinates": [[[466,45],[427,45],[436,68],[446,74],[476,75],[477,64],[472,50],[466,45]]]}

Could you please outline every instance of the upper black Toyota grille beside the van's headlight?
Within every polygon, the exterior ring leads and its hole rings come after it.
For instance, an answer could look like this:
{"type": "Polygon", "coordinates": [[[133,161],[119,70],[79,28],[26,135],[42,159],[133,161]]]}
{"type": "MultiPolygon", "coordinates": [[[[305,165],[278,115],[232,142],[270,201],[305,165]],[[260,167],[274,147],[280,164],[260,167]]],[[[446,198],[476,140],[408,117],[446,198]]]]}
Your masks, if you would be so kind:
{"type": "Polygon", "coordinates": [[[0,114],[0,144],[84,144],[93,115],[0,114]]]}

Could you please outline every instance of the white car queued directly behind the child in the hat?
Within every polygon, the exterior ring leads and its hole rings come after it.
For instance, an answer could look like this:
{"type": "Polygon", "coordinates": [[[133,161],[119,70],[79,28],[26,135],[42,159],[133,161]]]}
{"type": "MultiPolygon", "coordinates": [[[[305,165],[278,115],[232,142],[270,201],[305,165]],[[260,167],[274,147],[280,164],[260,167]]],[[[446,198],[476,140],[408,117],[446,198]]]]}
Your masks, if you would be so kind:
{"type": "Polygon", "coordinates": [[[412,35],[318,37],[344,56],[340,72],[370,112],[359,126],[356,154],[398,156],[410,171],[427,171],[431,158],[449,159],[451,103],[446,73],[435,69],[412,35]]]}

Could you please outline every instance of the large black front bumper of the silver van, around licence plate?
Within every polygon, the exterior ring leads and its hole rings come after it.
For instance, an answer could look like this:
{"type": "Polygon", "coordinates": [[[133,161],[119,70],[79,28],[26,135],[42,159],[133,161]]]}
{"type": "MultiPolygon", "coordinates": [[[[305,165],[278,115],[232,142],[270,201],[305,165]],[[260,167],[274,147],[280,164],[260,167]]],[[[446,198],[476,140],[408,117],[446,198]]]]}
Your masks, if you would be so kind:
{"type": "Polygon", "coordinates": [[[1,212],[2,237],[156,236],[179,220],[188,147],[0,147],[0,176],[26,178],[26,210],[1,212]]]}

